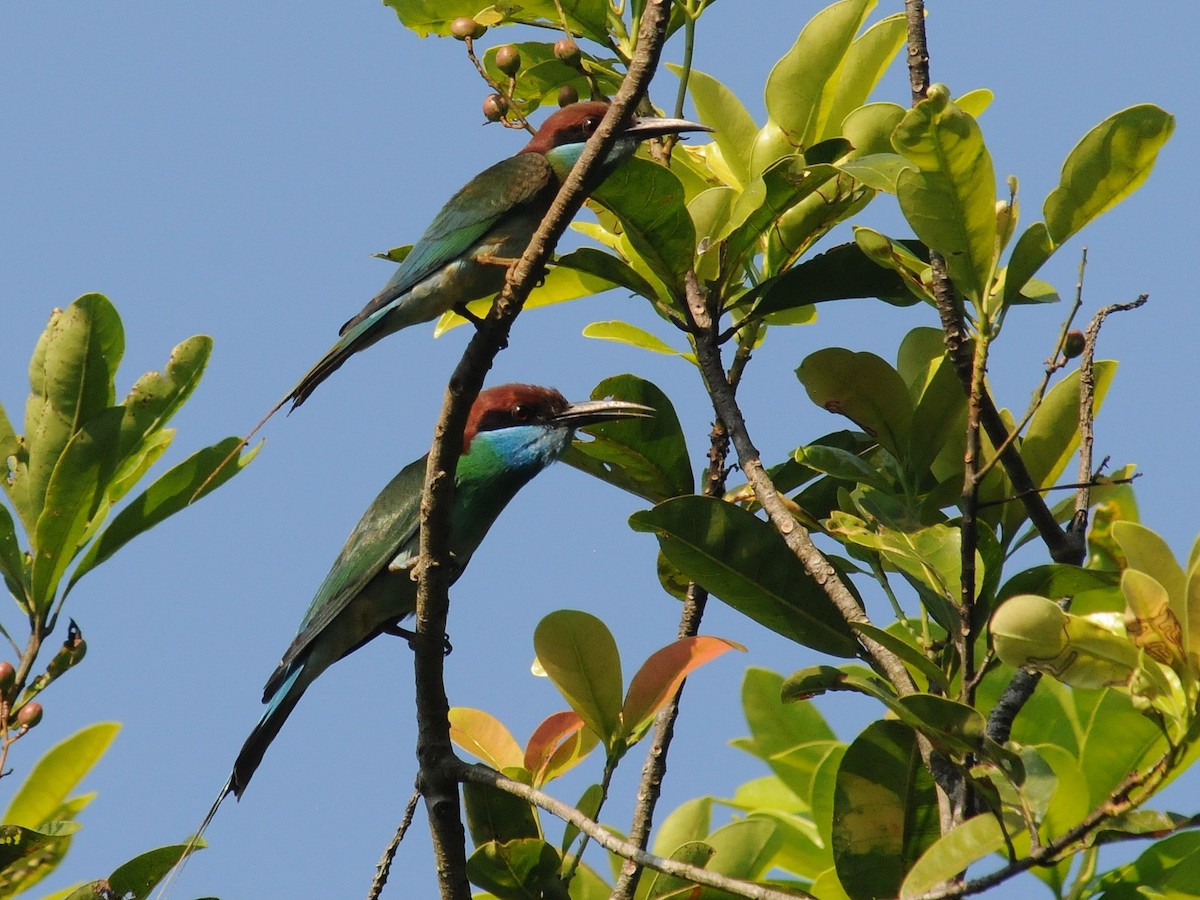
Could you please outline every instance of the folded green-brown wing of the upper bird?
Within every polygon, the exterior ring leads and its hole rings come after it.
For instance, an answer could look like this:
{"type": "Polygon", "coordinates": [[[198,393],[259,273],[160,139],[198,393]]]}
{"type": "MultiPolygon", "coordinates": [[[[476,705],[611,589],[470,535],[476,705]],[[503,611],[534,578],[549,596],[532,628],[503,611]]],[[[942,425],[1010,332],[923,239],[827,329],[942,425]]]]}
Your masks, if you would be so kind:
{"type": "Polygon", "coordinates": [[[510,156],[473,178],[434,216],[384,289],[342,325],[342,334],[466,253],[505,214],[552,187],[553,178],[541,154],[510,156]]]}

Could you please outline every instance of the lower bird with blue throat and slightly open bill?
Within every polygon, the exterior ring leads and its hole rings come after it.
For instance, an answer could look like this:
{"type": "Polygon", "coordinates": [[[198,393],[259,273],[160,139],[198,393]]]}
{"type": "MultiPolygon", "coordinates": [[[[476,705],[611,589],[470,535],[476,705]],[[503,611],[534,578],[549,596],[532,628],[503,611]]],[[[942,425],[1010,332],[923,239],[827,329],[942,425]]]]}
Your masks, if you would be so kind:
{"type": "MultiPolygon", "coordinates": [[[[504,506],[559,458],[575,428],[648,418],[649,407],[616,400],[568,403],[557,390],[505,384],[479,395],[463,433],[455,478],[450,550],[457,578],[504,506]]],[[[266,712],[246,738],[221,799],[246,790],[263,754],[312,682],[337,660],[415,612],[425,457],[401,469],[354,527],[263,691],[266,712]]],[[[211,815],[209,818],[211,818],[211,815]]],[[[208,820],[205,820],[208,822],[208,820]]]]}

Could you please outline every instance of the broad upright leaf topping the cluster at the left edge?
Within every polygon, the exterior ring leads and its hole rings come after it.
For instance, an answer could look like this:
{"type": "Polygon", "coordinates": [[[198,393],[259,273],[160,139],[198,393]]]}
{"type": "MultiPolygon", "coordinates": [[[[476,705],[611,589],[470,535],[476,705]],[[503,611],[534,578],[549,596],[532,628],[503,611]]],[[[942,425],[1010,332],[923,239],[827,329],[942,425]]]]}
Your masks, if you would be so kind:
{"type": "Polygon", "coordinates": [[[55,311],[29,364],[25,445],[6,484],[17,515],[32,534],[50,478],[71,438],[114,401],[113,379],[125,331],[113,305],[84,294],[55,311]]]}

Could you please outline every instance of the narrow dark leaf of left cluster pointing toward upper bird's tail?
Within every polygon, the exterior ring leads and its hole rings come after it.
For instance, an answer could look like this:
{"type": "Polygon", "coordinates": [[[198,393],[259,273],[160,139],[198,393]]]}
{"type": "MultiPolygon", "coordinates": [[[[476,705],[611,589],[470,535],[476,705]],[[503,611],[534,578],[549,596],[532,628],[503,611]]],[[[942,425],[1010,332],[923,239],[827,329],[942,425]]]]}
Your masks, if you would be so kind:
{"type": "Polygon", "coordinates": [[[240,444],[241,438],[228,437],[217,444],[197,450],[134,497],[88,547],[88,552],[71,575],[67,590],[139,534],[150,530],[200,497],[208,496],[246,468],[258,454],[258,448],[242,454],[234,464],[226,464],[229,454],[240,444]],[[204,490],[197,493],[200,485],[204,485],[204,490]]]}

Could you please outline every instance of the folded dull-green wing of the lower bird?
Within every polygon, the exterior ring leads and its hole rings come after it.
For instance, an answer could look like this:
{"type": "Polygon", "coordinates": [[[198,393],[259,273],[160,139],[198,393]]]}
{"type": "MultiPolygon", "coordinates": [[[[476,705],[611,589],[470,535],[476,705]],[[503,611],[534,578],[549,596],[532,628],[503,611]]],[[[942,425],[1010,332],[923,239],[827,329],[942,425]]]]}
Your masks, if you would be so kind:
{"type": "Polygon", "coordinates": [[[416,556],[424,484],[425,457],[421,457],[401,469],[374,498],[317,589],[278,671],[302,654],[392,560],[401,557],[403,562],[406,553],[416,556]]]}

